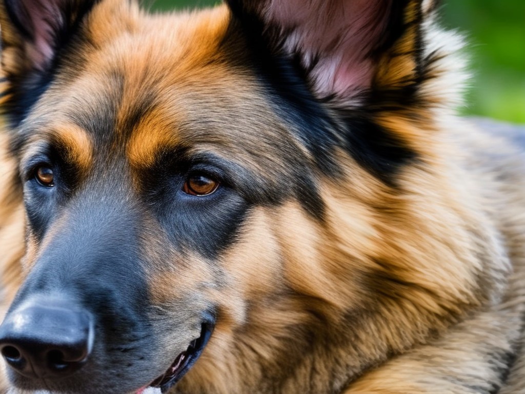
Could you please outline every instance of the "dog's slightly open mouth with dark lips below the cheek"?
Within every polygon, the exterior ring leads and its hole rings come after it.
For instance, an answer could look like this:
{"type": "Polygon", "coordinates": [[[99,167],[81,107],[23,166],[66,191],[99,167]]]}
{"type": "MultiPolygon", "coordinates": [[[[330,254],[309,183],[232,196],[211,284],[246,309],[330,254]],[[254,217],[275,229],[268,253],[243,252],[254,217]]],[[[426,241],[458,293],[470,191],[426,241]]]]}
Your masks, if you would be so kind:
{"type": "MultiPolygon", "coordinates": [[[[181,380],[201,355],[209,338],[212,336],[213,327],[213,323],[203,323],[201,336],[194,339],[190,346],[175,358],[175,361],[164,374],[153,380],[148,387],[160,388],[161,392],[165,393],[181,380]]],[[[137,394],[141,394],[144,389],[137,391],[137,394]]]]}

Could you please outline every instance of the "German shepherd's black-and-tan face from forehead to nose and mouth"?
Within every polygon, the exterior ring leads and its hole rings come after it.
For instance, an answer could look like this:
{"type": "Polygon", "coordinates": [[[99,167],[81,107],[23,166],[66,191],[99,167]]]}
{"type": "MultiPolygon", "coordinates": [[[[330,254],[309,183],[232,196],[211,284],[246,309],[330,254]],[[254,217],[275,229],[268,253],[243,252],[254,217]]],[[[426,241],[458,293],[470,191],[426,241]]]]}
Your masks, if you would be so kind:
{"type": "Polygon", "coordinates": [[[247,293],[283,291],[266,208],[298,202],[305,221],[322,216],[290,119],[254,71],[234,67],[253,60],[227,42],[240,37],[226,36],[226,9],[160,28],[134,11],[125,2],[90,10],[20,115],[27,276],[3,347],[16,387],[166,390],[215,324],[220,335],[245,321],[247,293]],[[9,341],[20,319],[29,338],[9,341]],[[46,346],[55,330],[72,331],[74,343],[46,346]]]}

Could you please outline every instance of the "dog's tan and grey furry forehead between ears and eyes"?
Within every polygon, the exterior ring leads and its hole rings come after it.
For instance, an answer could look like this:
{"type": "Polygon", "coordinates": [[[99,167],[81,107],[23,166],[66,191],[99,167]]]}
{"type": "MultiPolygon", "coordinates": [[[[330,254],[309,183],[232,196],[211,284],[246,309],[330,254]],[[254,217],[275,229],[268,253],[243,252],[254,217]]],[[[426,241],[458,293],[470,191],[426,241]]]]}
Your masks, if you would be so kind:
{"type": "Polygon", "coordinates": [[[142,15],[131,31],[100,38],[81,71],[66,64],[31,117],[49,119],[49,130],[76,125],[96,152],[112,147],[135,168],[152,164],[160,150],[181,146],[243,164],[261,144],[290,149],[297,141],[289,125],[272,110],[254,72],[239,70],[232,57],[232,46],[242,43],[225,43],[228,15],[225,7],[142,15]]]}

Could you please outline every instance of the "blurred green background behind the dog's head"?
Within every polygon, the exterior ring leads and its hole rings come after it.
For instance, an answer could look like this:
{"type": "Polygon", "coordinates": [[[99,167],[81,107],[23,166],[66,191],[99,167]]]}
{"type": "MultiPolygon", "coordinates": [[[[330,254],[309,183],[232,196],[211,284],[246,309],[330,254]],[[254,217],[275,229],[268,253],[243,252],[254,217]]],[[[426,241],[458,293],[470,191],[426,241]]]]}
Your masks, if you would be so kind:
{"type": "MultiPolygon", "coordinates": [[[[220,0],[146,0],[153,10],[220,0]],[[151,2],[151,3],[150,3],[151,2]]],[[[466,114],[525,123],[525,0],[443,1],[443,25],[466,35],[472,80],[466,114]]]]}

